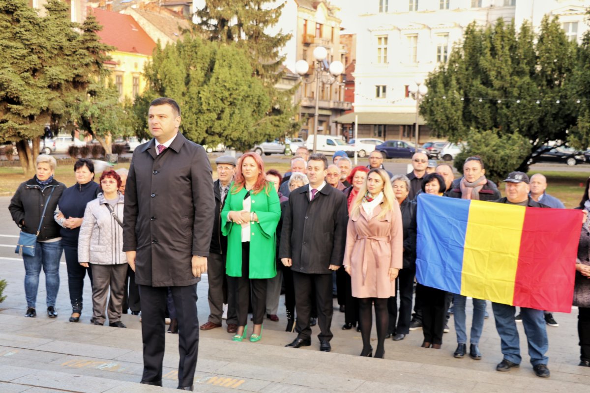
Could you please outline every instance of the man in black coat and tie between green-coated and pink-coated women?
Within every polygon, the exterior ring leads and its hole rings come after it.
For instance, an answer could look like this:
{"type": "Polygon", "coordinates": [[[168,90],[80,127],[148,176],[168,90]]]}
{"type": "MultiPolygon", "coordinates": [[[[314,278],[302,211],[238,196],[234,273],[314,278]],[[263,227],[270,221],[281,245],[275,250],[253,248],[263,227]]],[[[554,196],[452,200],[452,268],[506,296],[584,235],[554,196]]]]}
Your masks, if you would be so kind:
{"type": "Polygon", "coordinates": [[[295,286],[297,338],[291,348],[311,345],[310,313],[317,302],[320,351],[329,352],[332,332],[332,272],[342,266],[348,212],[342,191],[324,180],[328,162],[323,154],[307,161],[309,184],[293,190],[283,213],[279,256],[290,266],[295,286]],[[312,298],[313,288],[316,296],[312,298]]]}

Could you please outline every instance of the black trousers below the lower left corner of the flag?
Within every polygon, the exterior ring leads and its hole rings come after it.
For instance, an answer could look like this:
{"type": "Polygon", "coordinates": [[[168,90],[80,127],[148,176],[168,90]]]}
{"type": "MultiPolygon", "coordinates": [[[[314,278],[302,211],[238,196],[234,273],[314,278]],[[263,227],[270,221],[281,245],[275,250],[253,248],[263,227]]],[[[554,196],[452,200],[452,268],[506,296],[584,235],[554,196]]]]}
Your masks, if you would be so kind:
{"type": "Polygon", "coordinates": [[[442,333],[448,311],[447,292],[418,284],[416,286],[416,299],[419,299],[419,306],[422,310],[424,341],[432,344],[442,344],[442,333]]]}

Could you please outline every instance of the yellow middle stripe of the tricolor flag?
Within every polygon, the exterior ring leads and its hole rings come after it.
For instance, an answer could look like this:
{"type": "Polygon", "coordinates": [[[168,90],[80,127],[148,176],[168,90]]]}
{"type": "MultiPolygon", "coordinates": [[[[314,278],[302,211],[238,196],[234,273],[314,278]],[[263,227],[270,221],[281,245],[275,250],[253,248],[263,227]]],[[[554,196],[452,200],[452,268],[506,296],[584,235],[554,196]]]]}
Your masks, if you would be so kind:
{"type": "Polygon", "coordinates": [[[472,200],[461,295],[512,304],[526,207],[472,200]]]}

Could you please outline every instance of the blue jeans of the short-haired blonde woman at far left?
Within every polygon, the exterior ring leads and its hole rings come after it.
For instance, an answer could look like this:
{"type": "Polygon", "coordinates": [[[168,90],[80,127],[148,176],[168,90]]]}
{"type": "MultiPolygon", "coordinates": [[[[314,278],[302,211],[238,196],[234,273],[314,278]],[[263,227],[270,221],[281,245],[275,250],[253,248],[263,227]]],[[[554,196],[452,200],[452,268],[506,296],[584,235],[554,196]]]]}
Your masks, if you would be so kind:
{"type": "Polygon", "coordinates": [[[45,273],[45,289],[47,290],[47,307],[55,306],[57,291],[60,289],[60,259],[61,240],[51,243],[37,242],[35,256],[23,255],[25,263],[25,296],[27,307],[35,308],[37,303],[37,289],[39,288],[39,274],[41,267],[45,273]]]}

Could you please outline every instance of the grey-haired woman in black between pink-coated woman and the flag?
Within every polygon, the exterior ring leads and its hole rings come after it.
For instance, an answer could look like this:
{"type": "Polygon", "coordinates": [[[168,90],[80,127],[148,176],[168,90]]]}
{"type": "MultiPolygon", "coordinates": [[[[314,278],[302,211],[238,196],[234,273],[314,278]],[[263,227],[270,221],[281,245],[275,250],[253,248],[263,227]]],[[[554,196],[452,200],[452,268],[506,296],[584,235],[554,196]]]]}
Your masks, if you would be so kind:
{"type": "Polygon", "coordinates": [[[394,341],[400,341],[409,333],[412,319],[412,295],[414,295],[414,276],[416,275],[416,203],[409,200],[409,179],[405,175],[396,175],[391,179],[394,187],[395,199],[402,212],[404,227],[404,268],[399,270],[398,282],[395,286],[399,290],[399,319],[397,296],[389,298],[389,335],[394,341]],[[396,326],[396,319],[397,326],[396,326]]]}

